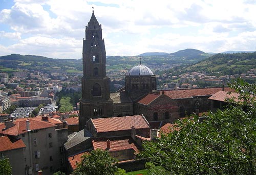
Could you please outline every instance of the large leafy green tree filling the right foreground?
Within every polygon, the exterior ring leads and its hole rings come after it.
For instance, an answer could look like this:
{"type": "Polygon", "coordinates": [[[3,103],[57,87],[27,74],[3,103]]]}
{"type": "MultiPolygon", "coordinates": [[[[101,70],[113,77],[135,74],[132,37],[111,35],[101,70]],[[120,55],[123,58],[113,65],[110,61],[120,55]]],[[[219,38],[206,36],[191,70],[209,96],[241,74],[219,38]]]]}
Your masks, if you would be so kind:
{"type": "Polygon", "coordinates": [[[255,174],[256,84],[230,84],[240,94],[223,111],[177,122],[178,131],[146,142],[141,157],[151,157],[168,174],[255,174]]]}

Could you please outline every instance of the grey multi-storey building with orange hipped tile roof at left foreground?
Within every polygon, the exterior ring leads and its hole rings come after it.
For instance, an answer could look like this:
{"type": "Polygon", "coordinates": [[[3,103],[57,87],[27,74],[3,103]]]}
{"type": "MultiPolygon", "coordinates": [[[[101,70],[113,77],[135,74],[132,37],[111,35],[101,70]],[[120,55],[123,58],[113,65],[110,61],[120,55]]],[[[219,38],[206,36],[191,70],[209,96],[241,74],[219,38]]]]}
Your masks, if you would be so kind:
{"type": "Polygon", "coordinates": [[[38,118],[20,118],[0,123],[0,136],[8,136],[23,148],[18,150],[20,154],[8,154],[11,165],[17,166],[14,171],[18,173],[13,174],[35,175],[39,170],[42,174],[65,171],[62,145],[67,141],[67,129],[56,129],[55,124],[38,118]]]}

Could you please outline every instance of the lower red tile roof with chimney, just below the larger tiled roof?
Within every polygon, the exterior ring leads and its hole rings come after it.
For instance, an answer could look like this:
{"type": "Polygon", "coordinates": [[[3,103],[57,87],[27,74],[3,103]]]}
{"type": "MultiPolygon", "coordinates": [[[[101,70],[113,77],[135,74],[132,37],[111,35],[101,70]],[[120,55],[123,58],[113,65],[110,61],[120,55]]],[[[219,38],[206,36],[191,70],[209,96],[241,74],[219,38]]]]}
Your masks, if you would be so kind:
{"type": "Polygon", "coordinates": [[[94,138],[92,139],[93,148],[105,150],[107,139],[110,140],[110,152],[122,151],[125,149],[134,149],[136,153],[139,153],[139,146],[130,136],[113,138],[94,138]]]}

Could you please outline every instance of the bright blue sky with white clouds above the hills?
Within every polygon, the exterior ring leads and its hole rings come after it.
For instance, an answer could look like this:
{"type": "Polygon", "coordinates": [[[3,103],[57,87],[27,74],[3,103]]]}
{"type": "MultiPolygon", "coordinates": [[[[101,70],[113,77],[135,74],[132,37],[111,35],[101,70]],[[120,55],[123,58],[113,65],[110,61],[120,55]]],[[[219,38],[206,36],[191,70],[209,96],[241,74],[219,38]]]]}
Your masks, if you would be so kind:
{"type": "Polygon", "coordinates": [[[256,50],[254,0],[0,0],[0,56],[80,59],[92,10],[108,56],[256,50]]]}

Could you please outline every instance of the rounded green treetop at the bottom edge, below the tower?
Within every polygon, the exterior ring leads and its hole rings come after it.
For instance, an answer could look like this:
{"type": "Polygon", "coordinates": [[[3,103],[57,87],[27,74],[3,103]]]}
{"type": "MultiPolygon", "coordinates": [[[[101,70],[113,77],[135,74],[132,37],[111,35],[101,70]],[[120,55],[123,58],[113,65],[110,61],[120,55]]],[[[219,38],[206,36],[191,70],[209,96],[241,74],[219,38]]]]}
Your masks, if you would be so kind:
{"type": "Polygon", "coordinates": [[[112,158],[108,152],[96,149],[90,154],[84,154],[81,162],[73,172],[74,175],[114,175],[118,171],[117,160],[112,158]]]}

